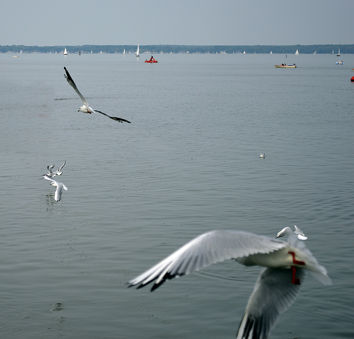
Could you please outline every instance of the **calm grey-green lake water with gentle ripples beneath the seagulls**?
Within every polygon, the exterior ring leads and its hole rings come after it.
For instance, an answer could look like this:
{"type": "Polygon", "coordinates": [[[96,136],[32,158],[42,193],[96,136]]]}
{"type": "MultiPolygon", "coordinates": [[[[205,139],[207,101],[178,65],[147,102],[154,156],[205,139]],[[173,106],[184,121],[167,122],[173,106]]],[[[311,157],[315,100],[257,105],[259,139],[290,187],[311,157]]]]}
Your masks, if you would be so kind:
{"type": "Polygon", "coordinates": [[[2,339],[234,338],[262,268],[227,260],[153,293],[127,281],[206,231],[295,224],[333,285],[308,276],[270,338],[354,337],[354,55],[11,55],[2,339]],[[131,124],[78,113],[64,66],[93,109],[131,124]],[[64,160],[56,203],[38,179],[64,160]]]}

